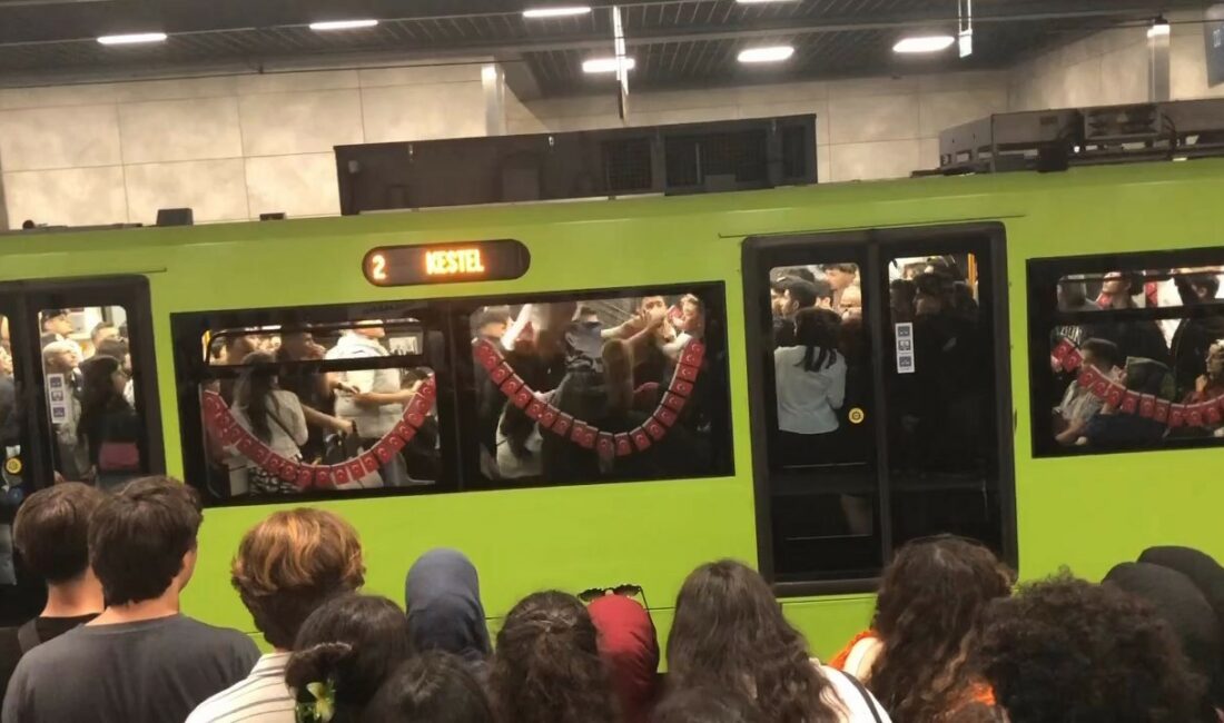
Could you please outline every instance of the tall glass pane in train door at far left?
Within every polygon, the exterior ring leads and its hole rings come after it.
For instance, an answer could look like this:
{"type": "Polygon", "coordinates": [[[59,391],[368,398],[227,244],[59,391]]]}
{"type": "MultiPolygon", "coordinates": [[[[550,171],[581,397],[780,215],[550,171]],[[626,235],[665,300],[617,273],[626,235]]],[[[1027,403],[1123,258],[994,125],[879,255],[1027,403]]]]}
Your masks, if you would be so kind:
{"type": "Polygon", "coordinates": [[[43,310],[39,324],[56,476],[114,489],[146,473],[126,311],[43,310]]]}

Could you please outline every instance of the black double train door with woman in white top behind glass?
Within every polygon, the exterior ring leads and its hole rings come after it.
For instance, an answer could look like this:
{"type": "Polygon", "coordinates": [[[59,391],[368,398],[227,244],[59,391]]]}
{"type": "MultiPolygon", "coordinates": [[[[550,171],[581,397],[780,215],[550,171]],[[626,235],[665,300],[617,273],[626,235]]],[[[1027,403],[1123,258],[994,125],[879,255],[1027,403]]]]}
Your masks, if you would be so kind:
{"type": "Polygon", "coordinates": [[[761,570],[868,590],[933,535],[1015,563],[1002,231],[744,243],[761,570]]]}

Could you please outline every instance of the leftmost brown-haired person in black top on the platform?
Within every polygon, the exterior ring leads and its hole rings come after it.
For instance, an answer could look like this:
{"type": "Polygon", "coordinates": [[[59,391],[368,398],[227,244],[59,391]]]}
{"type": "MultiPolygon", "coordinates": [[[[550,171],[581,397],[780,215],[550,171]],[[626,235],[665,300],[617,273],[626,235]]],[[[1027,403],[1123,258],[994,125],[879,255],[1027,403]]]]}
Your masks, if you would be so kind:
{"type": "Polygon", "coordinates": [[[0,629],[0,685],[35,646],[83,625],[102,612],[102,584],[89,569],[89,517],[102,491],[65,482],[29,495],[13,522],[17,552],[47,581],[47,607],[17,628],[0,629]]]}

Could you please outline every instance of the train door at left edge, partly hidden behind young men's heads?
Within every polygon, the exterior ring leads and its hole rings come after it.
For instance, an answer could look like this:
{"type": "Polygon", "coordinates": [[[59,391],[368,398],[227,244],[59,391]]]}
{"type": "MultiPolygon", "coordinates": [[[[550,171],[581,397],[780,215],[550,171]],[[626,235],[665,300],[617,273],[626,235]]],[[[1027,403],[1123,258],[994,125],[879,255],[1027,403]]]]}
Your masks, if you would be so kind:
{"type": "Polygon", "coordinates": [[[44,596],[13,547],[21,503],[59,482],[164,473],[158,410],[144,278],[0,284],[0,625],[44,596]]]}

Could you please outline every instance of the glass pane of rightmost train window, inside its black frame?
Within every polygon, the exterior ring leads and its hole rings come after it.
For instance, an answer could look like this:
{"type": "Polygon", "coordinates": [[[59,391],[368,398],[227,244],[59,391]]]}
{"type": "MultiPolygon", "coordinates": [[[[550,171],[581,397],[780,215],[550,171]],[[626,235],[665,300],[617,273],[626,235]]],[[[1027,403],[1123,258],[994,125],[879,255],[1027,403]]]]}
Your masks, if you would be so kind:
{"type": "MultiPolygon", "coordinates": [[[[1224,267],[1062,276],[1050,332],[1059,447],[1224,438],[1224,267]]],[[[1037,373],[1037,369],[1034,369],[1037,373]]]]}

